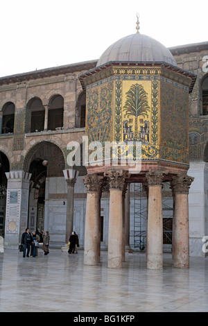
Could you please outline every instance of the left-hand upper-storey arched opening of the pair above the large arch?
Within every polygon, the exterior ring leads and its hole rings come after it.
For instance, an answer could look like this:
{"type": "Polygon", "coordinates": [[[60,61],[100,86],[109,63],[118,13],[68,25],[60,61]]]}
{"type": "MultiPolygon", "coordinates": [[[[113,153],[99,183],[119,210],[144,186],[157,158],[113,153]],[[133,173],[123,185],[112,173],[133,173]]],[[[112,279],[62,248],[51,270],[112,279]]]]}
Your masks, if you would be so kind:
{"type": "Polygon", "coordinates": [[[26,132],[44,130],[45,110],[38,97],[31,98],[26,107],[26,132]]]}

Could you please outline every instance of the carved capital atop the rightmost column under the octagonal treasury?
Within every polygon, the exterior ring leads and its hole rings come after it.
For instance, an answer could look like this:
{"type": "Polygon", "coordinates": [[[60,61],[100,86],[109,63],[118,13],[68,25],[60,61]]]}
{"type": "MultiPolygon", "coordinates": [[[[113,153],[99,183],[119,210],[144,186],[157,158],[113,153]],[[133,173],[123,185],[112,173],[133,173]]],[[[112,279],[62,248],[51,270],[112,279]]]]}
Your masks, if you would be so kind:
{"type": "Polygon", "coordinates": [[[189,189],[194,178],[187,174],[173,175],[171,188],[174,194],[189,194],[189,189]]]}

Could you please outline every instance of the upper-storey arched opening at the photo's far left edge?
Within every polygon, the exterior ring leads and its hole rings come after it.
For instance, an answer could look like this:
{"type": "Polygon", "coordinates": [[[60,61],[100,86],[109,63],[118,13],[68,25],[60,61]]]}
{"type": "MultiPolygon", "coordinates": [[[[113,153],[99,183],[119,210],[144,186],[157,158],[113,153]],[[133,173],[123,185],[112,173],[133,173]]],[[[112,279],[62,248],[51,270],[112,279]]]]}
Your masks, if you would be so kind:
{"type": "Polygon", "coordinates": [[[15,104],[8,102],[3,105],[2,133],[8,134],[14,132],[15,123],[15,104]]]}

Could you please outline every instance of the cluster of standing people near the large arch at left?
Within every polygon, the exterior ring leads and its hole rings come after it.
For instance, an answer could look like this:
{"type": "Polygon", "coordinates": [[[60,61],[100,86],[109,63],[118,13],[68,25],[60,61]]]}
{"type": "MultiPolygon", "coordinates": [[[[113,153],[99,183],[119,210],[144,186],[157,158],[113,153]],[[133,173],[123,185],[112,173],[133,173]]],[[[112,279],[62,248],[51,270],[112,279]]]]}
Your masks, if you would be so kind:
{"type": "Polygon", "coordinates": [[[36,257],[38,256],[38,246],[42,243],[42,250],[44,250],[44,255],[49,255],[49,241],[50,236],[48,231],[42,231],[38,229],[36,232],[32,233],[28,228],[21,235],[21,244],[23,245],[23,257],[36,257]]]}

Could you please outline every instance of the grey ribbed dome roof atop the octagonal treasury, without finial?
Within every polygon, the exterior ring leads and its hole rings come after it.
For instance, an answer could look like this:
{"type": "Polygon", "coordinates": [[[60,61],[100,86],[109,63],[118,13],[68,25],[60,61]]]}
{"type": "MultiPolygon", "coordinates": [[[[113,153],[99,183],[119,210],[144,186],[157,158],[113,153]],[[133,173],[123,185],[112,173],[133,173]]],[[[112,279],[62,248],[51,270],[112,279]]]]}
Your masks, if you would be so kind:
{"type": "Polygon", "coordinates": [[[164,45],[144,34],[135,33],[110,45],[101,55],[96,67],[107,62],[166,62],[177,67],[177,63],[164,45]]]}

